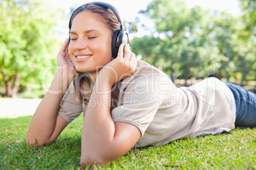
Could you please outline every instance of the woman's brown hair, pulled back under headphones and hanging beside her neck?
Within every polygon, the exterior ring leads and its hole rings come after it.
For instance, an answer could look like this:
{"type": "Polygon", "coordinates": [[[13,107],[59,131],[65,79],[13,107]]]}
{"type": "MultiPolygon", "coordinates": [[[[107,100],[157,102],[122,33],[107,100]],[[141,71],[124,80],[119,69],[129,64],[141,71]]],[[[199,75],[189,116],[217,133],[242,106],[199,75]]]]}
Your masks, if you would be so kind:
{"type": "MultiPolygon", "coordinates": [[[[90,11],[91,13],[96,13],[100,16],[101,21],[111,30],[112,35],[120,29],[120,23],[118,22],[117,16],[111,11],[110,9],[103,8],[93,3],[83,4],[82,6],[78,7],[71,15],[69,20],[69,30],[71,29],[73,19],[75,18],[78,13],[82,11],[90,11]]],[[[94,86],[92,80],[90,79],[89,74],[84,73],[80,74],[76,77],[74,85],[76,88],[76,95],[79,95],[80,101],[82,103],[88,103],[90,94],[92,93],[92,88],[94,86]]],[[[113,108],[117,107],[117,101],[120,91],[120,83],[117,82],[112,86],[111,89],[111,107],[110,112],[113,108]]]]}

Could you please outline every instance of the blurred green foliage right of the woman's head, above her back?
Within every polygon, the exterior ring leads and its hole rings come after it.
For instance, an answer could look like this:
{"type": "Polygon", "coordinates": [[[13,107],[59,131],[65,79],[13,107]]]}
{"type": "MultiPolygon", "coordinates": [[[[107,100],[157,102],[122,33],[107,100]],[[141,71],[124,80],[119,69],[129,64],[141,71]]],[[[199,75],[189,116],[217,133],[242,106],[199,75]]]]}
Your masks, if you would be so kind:
{"type": "MultiPolygon", "coordinates": [[[[249,10],[250,17],[256,17],[252,1],[243,3],[243,9],[249,10]]],[[[200,6],[187,8],[183,0],[154,0],[140,13],[153,20],[158,36],[152,32],[149,36],[136,37],[132,39],[132,47],[143,60],[156,67],[164,65],[162,69],[171,74],[173,81],[177,77],[198,78],[200,72],[206,74],[199,77],[255,80],[256,39],[244,26],[255,30],[255,22],[254,26],[245,22],[245,15],[241,18],[200,6]],[[210,67],[214,68],[208,72],[210,67]],[[237,73],[242,76],[238,77],[237,73]]]]}

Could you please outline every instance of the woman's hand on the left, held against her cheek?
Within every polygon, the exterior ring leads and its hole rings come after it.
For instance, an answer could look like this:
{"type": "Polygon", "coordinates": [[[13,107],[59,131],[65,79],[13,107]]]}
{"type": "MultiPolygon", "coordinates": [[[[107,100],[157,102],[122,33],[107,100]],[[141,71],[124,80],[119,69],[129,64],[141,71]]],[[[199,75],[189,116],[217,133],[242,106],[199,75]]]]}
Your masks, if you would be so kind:
{"type": "Polygon", "coordinates": [[[60,70],[67,71],[68,75],[75,75],[78,72],[76,71],[73,65],[69,65],[67,60],[71,61],[69,53],[68,53],[68,39],[62,44],[62,47],[57,54],[57,64],[60,67],[60,70]]]}

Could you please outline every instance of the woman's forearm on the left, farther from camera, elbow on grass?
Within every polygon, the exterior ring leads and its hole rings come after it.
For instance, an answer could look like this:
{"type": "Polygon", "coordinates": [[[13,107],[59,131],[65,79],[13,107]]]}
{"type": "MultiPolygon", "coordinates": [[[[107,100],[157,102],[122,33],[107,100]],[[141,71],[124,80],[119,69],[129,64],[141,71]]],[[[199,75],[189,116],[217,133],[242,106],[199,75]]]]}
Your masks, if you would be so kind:
{"type": "Polygon", "coordinates": [[[27,143],[34,144],[37,142],[38,145],[43,145],[51,142],[49,139],[56,126],[59,104],[71,82],[70,79],[72,78],[68,77],[68,79],[65,78],[66,80],[64,80],[64,77],[67,77],[67,75],[65,75],[62,70],[58,70],[55,74],[50,89],[44,96],[31,119],[27,131],[27,143]]]}

